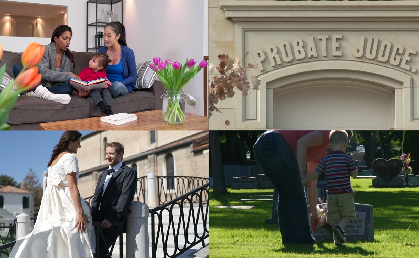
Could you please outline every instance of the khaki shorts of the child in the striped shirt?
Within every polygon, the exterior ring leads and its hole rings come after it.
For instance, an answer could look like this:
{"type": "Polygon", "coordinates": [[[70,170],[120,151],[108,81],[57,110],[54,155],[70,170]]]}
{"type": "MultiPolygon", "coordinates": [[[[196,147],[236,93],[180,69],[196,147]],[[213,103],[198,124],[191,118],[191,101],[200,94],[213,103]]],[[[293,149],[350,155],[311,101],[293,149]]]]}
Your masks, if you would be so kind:
{"type": "Polygon", "coordinates": [[[327,194],[327,221],[338,223],[341,217],[350,220],[357,219],[355,216],[354,193],[327,194]]]}

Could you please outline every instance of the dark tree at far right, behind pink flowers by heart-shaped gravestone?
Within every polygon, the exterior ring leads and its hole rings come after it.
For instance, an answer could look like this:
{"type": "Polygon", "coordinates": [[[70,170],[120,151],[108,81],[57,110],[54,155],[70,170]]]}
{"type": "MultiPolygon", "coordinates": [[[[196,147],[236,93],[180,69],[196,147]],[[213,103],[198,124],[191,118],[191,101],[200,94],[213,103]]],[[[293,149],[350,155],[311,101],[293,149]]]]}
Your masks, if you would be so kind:
{"type": "Polygon", "coordinates": [[[401,151],[410,154],[411,163],[409,166],[412,168],[412,173],[419,175],[419,131],[404,131],[403,142],[401,142],[401,151]]]}

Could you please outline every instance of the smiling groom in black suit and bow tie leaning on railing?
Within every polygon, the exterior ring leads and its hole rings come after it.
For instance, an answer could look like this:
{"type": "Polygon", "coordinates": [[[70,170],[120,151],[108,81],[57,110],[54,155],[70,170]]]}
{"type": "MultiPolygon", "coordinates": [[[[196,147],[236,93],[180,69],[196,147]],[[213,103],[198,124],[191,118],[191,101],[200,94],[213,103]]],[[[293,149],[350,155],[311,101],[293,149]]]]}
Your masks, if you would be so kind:
{"type": "Polygon", "coordinates": [[[106,243],[103,243],[102,238],[96,236],[100,239],[99,250],[96,247],[98,258],[108,258],[106,249],[114,242],[118,228],[111,225],[122,222],[137,188],[137,171],[122,163],[122,157],[122,144],[106,144],[106,163],[109,167],[99,175],[91,204],[93,221],[102,222],[101,229],[106,240],[106,243]]]}

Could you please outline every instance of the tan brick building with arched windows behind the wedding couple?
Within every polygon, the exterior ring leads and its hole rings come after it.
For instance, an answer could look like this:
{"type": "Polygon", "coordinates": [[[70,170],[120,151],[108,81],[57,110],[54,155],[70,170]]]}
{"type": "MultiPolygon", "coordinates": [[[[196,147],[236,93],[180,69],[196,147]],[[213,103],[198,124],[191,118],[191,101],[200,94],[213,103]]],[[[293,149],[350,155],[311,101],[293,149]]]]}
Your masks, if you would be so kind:
{"type": "Polygon", "coordinates": [[[174,175],[208,178],[208,131],[96,131],[82,137],[78,158],[78,187],[84,197],[92,196],[98,176],[108,165],[105,146],[108,142],[124,145],[123,162],[147,173],[167,175],[168,159],[174,175]]]}

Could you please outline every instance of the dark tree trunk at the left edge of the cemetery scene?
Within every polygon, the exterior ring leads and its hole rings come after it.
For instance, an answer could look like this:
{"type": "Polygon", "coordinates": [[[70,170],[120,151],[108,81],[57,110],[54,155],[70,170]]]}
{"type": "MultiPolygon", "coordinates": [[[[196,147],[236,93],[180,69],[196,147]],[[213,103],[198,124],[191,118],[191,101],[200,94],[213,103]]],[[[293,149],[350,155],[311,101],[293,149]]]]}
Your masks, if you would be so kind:
{"type": "Polygon", "coordinates": [[[224,167],[222,165],[220,131],[209,131],[209,155],[211,156],[214,193],[227,193],[225,188],[224,167]]]}

